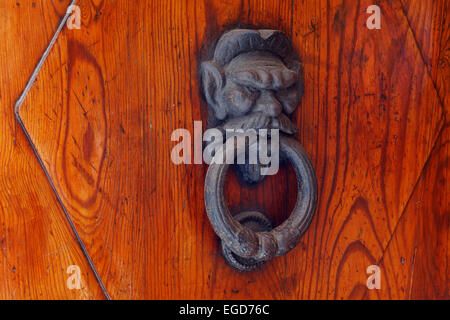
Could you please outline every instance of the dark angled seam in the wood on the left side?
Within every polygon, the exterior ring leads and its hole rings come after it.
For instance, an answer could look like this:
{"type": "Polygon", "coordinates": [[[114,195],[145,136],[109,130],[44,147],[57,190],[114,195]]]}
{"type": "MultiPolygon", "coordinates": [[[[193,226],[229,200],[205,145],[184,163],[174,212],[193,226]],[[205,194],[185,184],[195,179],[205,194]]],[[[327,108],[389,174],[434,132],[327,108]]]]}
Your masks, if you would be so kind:
{"type": "Polygon", "coordinates": [[[65,14],[64,17],[62,18],[62,20],[61,20],[61,22],[60,22],[60,24],[59,24],[59,26],[58,26],[58,28],[57,28],[55,34],[53,35],[53,37],[52,37],[52,39],[51,39],[49,45],[48,45],[47,48],[45,49],[44,54],[42,55],[42,57],[41,57],[41,59],[39,60],[39,62],[38,62],[38,64],[37,64],[36,68],[34,69],[32,75],[31,75],[31,77],[30,77],[30,80],[28,80],[28,83],[27,83],[27,85],[25,86],[25,89],[23,90],[22,94],[20,95],[19,99],[17,100],[17,102],[16,102],[16,104],[15,104],[15,106],[14,106],[14,114],[15,114],[15,116],[16,116],[17,121],[19,122],[20,126],[22,127],[22,129],[23,129],[23,131],[24,131],[25,136],[27,137],[27,139],[28,139],[28,141],[29,141],[29,143],[30,143],[30,145],[31,145],[31,148],[33,149],[33,152],[34,152],[34,154],[36,155],[36,157],[37,157],[37,159],[38,159],[38,161],[39,161],[39,164],[41,165],[42,169],[44,170],[44,173],[45,173],[45,175],[46,175],[46,177],[47,177],[47,180],[50,182],[50,185],[51,185],[51,187],[52,187],[52,189],[53,189],[53,192],[55,193],[56,198],[57,198],[59,204],[61,205],[61,208],[62,208],[62,210],[63,210],[63,212],[64,212],[64,214],[65,214],[65,216],[66,216],[66,218],[67,218],[67,220],[68,220],[68,222],[69,222],[69,225],[70,225],[70,227],[72,228],[73,233],[75,234],[75,238],[77,239],[78,245],[80,246],[80,249],[81,249],[81,251],[83,252],[85,258],[87,259],[88,264],[89,264],[90,268],[92,269],[92,272],[94,273],[94,276],[95,276],[95,278],[97,279],[97,282],[98,282],[100,288],[102,289],[103,294],[105,295],[106,299],[111,300],[111,297],[110,297],[110,295],[108,294],[108,291],[106,290],[106,287],[105,287],[105,285],[103,284],[103,281],[102,281],[102,279],[100,278],[100,275],[99,275],[99,273],[97,272],[97,269],[95,268],[95,265],[94,265],[94,263],[93,263],[91,257],[89,256],[89,253],[87,252],[87,249],[86,249],[86,247],[85,247],[83,241],[81,240],[80,235],[78,234],[78,232],[77,232],[77,230],[76,230],[76,228],[75,228],[75,225],[74,225],[72,219],[70,218],[69,213],[68,213],[66,207],[64,206],[64,204],[63,204],[63,202],[62,202],[62,199],[61,199],[60,195],[58,194],[58,192],[57,192],[57,190],[56,190],[55,185],[53,184],[53,181],[52,181],[52,179],[51,179],[51,177],[50,177],[50,174],[49,174],[49,172],[47,171],[47,169],[46,169],[46,167],[45,167],[45,165],[44,165],[44,162],[42,161],[42,159],[41,159],[39,153],[37,152],[36,146],[34,145],[34,142],[33,142],[33,140],[31,139],[30,135],[28,134],[28,131],[27,131],[27,129],[25,128],[25,125],[24,125],[24,123],[23,123],[23,121],[22,121],[22,119],[21,119],[21,117],[20,117],[20,114],[19,114],[20,107],[22,106],[22,104],[23,104],[23,102],[24,102],[26,96],[28,95],[29,91],[30,91],[31,88],[33,87],[34,83],[36,82],[36,78],[37,78],[39,72],[41,71],[42,66],[44,65],[44,62],[47,60],[47,57],[48,57],[48,55],[50,54],[50,52],[51,52],[53,46],[55,45],[56,40],[58,39],[59,34],[61,33],[62,29],[64,28],[64,26],[65,26],[65,24],[66,24],[66,22],[67,22],[67,19],[68,19],[69,16],[72,14],[68,9],[70,8],[70,6],[75,5],[76,2],[77,2],[77,0],[72,0],[72,2],[71,2],[71,4],[69,5],[69,7],[67,7],[66,14],[65,14]]]}

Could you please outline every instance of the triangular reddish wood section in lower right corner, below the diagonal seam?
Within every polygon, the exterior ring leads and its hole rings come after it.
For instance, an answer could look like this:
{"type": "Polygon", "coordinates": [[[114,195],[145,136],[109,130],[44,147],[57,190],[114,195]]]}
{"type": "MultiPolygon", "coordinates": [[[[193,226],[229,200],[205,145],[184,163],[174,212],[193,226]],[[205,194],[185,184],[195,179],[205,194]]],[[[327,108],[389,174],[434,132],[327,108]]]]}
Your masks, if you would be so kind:
{"type": "Polygon", "coordinates": [[[447,124],[381,261],[385,299],[450,299],[447,124]]]}

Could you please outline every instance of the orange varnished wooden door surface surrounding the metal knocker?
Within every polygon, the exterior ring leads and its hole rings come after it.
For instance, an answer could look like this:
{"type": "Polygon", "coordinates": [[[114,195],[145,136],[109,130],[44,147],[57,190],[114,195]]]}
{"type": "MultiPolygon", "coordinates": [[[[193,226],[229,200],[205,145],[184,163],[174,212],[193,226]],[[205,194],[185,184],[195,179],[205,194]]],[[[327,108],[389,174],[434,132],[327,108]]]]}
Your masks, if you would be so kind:
{"type": "MultiPolygon", "coordinates": [[[[10,12],[22,19],[22,10],[28,10],[49,30],[65,11],[65,3],[56,0],[36,5],[38,13],[31,1],[17,3],[3,9],[7,19],[13,19],[10,12]]],[[[29,208],[43,201],[41,235],[14,230],[10,238],[26,233],[33,240],[24,243],[38,244],[41,237],[53,248],[61,239],[52,238],[51,227],[58,229],[72,244],[60,259],[78,257],[74,264],[88,279],[84,292],[93,298],[101,292],[65,212],[114,299],[450,298],[448,4],[377,1],[382,26],[368,30],[371,4],[79,0],[81,30],[64,29],[20,109],[62,207],[17,133],[12,108],[5,109],[2,136],[11,139],[9,123],[23,146],[16,150],[10,143],[2,154],[21,152],[17,157],[26,168],[14,158],[14,170],[28,170],[27,179],[35,182],[8,182],[6,190],[22,190],[22,185],[25,191],[20,200],[2,198],[2,206],[17,207],[4,210],[0,222],[14,223],[18,211],[32,219],[38,213],[29,208]],[[305,96],[293,120],[319,183],[316,216],[299,246],[252,273],[234,271],[221,257],[204,208],[207,166],[176,166],[170,159],[173,130],[193,132],[195,120],[206,124],[199,62],[210,58],[225,30],[235,27],[280,29],[292,39],[305,79],[305,96]],[[28,206],[22,197],[29,197],[28,206]],[[47,216],[54,222],[44,223],[47,216]],[[366,269],[373,264],[382,270],[380,290],[366,287],[366,269]]],[[[32,24],[28,28],[39,33],[32,24]]],[[[10,29],[1,29],[11,40],[2,44],[0,64],[8,73],[1,73],[0,92],[4,99],[5,89],[18,88],[7,100],[12,106],[51,32],[34,40],[33,52],[14,55],[12,63],[7,53],[19,46],[11,43],[19,36],[10,29]],[[28,56],[36,59],[26,70],[21,61],[28,56]],[[21,81],[12,67],[24,73],[21,81]]],[[[291,168],[255,187],[242,186],[231,173],[227,193],[233,212],[259,209],[278,224],[294,205],[296,182],[291,168]]],[[[17,250],[10,238],[7,245],[17,250]]],[[[1,277],[13,279],[4,265],[1,277]]],[[[27,264],[21,267],[31,272],[27,264]]],[[[63,280],[55,297],[66,294],[63,280]]],[[[25,284],[35,288],[28,283],[24,277],[8,284],[3,295],[24,290],[25,284]]]]}

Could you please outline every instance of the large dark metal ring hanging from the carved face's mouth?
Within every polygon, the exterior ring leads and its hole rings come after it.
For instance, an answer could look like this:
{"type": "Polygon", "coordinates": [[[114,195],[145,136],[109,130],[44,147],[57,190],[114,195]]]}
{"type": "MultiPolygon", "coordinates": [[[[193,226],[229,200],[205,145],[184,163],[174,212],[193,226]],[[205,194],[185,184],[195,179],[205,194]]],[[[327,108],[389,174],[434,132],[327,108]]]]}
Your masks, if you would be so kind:
{"type": "Polygon", "coordinates": [[[285,136],[280,136],[280,151],[294,167],[297,202],[289,218],[269,232],[254,232],[231,215],[224,195],[229,165],[212,163],[208,168],[205,204],[209,221],[224,245],[239,257],[267,261],[286,254],[298,244],[314,216],[317,180],[308,155],[296,140],[285,136]]]}

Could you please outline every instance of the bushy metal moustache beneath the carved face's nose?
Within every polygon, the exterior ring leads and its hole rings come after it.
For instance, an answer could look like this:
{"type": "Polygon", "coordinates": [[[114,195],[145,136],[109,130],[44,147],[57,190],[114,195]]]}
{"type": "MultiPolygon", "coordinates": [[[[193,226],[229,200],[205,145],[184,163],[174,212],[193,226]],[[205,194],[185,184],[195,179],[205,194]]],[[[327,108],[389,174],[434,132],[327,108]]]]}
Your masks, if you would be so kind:
{"type": "Polygon", "coordinates": [[[293,134],[298,131],[297,127],[289,120],[284,114],[280,114],[278,117],[273,118],[266,116],[261,112],[251,113],[242,117],[232,118],[226,121],[221,129],[242,129],[244,131],[254,129],[279,129],[286,134],[293,134]]]}

